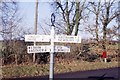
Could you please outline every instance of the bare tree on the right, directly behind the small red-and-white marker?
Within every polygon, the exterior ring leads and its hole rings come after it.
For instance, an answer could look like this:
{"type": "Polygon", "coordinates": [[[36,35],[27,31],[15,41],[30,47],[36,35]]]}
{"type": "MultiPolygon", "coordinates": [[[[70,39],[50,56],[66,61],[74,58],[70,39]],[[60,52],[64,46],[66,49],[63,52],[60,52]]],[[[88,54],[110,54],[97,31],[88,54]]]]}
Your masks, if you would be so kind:
{"type": "Polygon", "coordinates": [[[100,21],[102,22],[103,31],[103,50],[106,51],[107,27],[120,13],[117,10],[116,0],[104,0],[100,13],[100,21]]]}

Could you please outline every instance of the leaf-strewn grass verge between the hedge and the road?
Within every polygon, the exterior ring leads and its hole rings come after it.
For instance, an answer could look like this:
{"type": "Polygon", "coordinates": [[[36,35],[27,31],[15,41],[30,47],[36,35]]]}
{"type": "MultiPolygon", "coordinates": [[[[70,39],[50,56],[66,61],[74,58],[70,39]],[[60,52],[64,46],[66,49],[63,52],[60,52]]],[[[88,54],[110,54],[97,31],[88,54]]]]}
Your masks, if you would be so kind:
{"type": "MultiPolygon", "coordinates": [[[[118,67],[118,62],[85,62],[85,61],[66,61],[61,60],[55,62],[54,70],[55,74],[74,72],[74,71],[85,71],[95,70],[103,68],[118,67]]],[[[49,75],[49,63],[48,64],[29,64],[29,65],[12,65],[2,67],[3,78],[13,77],[25,77],[25,76],[43,76],[49,75]]]]}

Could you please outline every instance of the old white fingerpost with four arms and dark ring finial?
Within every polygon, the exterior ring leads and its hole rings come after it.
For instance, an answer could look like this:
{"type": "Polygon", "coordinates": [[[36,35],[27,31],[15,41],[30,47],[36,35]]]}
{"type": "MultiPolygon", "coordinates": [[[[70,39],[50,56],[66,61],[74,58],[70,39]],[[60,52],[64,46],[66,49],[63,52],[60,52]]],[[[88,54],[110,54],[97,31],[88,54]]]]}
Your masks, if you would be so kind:
{"type": "Polygon", "coordinates": [[[54,52],[70,52],[69,46],[60,46],[54,45],[55,42],[60,43],[81,43],[80,36],[68,36],[68,35],[55,35],[54,29],[54,21],[55,17],[51,19],[52,22],[52,29],[50,35],[25,35],[26,42],[49,42],[50,45],[41,45],[41,46],[28,46],[27,52],[28,53],[44,53],[50,52],[50,80],[53,79],[54,74],[54,52]]]}

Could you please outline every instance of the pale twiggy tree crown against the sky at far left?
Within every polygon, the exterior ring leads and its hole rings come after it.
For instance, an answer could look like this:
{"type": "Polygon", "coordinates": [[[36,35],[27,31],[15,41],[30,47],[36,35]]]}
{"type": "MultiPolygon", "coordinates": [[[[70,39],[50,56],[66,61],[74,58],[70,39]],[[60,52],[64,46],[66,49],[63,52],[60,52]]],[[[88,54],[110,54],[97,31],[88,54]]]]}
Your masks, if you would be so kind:
{"type": "Polygon", "coordinates": [[[18,16],[17,2],[2,2],[2,37],[4,40],[11,40],[16,35],[22,17],[18,16]]]}

